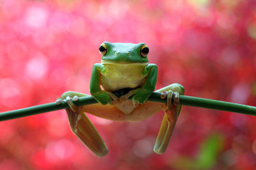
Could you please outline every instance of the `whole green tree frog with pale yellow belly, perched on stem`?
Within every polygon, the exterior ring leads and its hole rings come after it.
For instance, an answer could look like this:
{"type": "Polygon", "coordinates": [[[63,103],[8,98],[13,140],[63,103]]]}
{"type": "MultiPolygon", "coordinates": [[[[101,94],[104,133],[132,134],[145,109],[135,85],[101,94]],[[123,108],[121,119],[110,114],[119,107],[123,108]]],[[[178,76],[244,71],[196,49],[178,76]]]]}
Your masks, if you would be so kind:
{"type": "Polygon", "coordinates": [[[148,46],[145,43],[105,41],[99,46],[99,52],[102,55],[101,63],[94,64],[90,81],[90,93],[99,103],[78,107],[72,100],[89,95],[65,92],[61,96],[61,100],[70,106],[66,111],[72,132],[93,153],[102,157],[108,153],[108,148],[84,112],[108,120],[134,122],[164,110],[154,146],[156,153],[164,153],[181,108],[179,103],[172,103],[173,100],[179,101],[179,94],[184,94],[184,88],[174,83],[157,90],[163,93],[163,97],[167,96],[166,104],[147,101],[157,81],[156,64],[148,64],[148,46]],[[115,96],[115,92],[121,96],[115,96]],[[127,100],[131,96],[132,100],[127,100]]]}

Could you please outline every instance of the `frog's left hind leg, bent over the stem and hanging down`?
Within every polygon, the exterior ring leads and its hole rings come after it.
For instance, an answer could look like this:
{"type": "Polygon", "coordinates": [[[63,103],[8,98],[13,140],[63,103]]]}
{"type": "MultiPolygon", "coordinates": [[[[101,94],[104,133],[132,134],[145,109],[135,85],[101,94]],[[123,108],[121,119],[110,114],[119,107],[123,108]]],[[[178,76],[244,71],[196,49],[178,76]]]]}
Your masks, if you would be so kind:
{"type": "Polygon", "coordinates": [[[102,157],[108,153],[104,141],[93,126],[89,118],[84,114],[83,106],[76,106],[71,99],[77,97],[88,96],[78,92],[65,92],[61,99],[67,101],[70,108],[66,109],[68,115],[68,122],[72,132],[79,138],[93,153],[102,157]],[[70,99],[68,99],[70,98],[70,99]]]}

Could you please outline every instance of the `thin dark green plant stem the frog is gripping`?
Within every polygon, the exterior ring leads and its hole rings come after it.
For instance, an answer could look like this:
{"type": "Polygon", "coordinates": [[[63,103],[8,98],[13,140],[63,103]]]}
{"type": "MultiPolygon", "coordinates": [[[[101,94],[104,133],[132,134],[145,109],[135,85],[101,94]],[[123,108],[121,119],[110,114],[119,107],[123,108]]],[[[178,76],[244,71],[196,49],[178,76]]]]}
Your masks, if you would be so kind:
{"type": "MultiPolygon", "coordinates": [[[[154,92],[148,98],[148,101],[166,103],[166,99],[161,99],[160,94],[161,93],[159,92],[154,92]]],[[[83,106],[86,104],[97,103],[97,101],[95,101],[95,99],[93,99],[92,96],[88,96],[88,97],[80,97],[79,101],[73,101],[73,103],[76,104],[77,106],[83,106]]],[[[256,107],[254,106],[228,103],[224,101],[216,101],[216,100],[204,99],[199,97],[180,95],[180,105],[208,108],[213,110],[230,111],[230,112],[243,113],[246,115],[256,116],[256,107]]],[[[69,106],[65,102],[61,102],[60,105],[56,105],[56,103],[40,104],[37,106],[31,106],[29,108],[23,108],[20,110],[6,111],[3,113],[0,113],[0,121],[10,120],[13,118],[28,117],[28,116],[36,115],[39,113],[46,113],[49,111],[62,110],[66,108],[69,108],[69,106]]]]}

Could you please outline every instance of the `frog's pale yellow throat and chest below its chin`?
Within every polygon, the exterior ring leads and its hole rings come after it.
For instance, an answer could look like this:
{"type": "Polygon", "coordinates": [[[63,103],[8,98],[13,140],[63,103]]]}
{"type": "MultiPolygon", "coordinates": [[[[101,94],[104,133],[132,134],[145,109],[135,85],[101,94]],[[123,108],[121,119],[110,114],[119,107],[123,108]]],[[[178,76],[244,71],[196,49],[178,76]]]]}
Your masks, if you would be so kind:
{"type": "Polygon", "coordinates": [[[143,69],[147,63],[134,64],[103,64],[104,71],[100,76],[100,84],[104,90],[113,92],[120,89],[141,87],[147,74],[143,69]]]}

